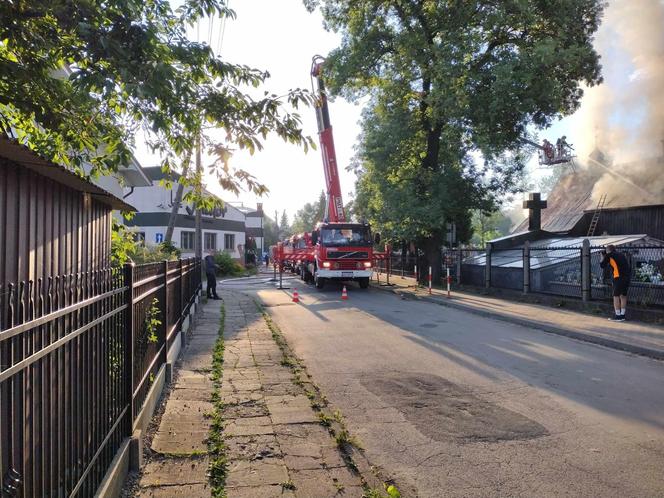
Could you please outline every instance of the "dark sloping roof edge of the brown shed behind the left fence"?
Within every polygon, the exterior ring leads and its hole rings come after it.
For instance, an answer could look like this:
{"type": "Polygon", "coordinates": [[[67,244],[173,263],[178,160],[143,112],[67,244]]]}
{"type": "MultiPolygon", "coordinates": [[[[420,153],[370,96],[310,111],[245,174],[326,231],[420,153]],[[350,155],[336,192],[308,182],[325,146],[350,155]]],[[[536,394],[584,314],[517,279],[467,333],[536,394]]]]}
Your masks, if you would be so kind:
{"type": "Polygon", "coordinates": [[[61,164],[44,159],[25,145],[19,143],[16,139],[0,136],[0,157],[32,170],[54,182],[79,192],[90,194],[93,199],[113,209],[136,211],[133,206],[127,204],[122,199],[115,197],[110,192],[77,175],[61,164]]]}

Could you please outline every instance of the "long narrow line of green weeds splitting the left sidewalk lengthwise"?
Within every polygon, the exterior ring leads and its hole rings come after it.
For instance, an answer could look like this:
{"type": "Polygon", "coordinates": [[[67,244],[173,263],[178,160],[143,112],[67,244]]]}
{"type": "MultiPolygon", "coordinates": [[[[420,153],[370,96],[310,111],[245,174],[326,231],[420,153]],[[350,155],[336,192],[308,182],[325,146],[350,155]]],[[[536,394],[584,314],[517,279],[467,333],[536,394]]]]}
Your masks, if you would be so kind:
{"type": "Polygon", "coordinates": [[[212,496],[215,498],[225,498],[226,476],[228,474],[228,457],[226,456],[226,444],[222,435],[223,430],[223,409],[221,401],[221,375],[224,367],[224,323],[226,319],[226,309],[221,305],[221,322],[219,324],[219,337],[214,345],[212,352],[212,405],[213,412],[210,414],[212,425],[208,434],[208,453],[210,455],[210,466],[208,474],[212,485],[212,496]]]}

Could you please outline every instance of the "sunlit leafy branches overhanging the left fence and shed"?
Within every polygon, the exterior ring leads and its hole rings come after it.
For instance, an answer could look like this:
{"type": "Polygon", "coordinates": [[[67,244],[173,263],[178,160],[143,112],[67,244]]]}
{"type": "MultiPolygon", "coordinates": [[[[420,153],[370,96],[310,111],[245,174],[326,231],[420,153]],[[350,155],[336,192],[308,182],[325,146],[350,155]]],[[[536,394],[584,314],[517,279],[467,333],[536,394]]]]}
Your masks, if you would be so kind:
{"type": "MultiPolygon", "coordinates": [[[[219,183],[265,192],[246,171],[230,168],[228,157],[234,148],[259,150],[272,131],[311,145],[289,110],[309,94],[255,99],[241,90],[259,87],[268,74],[190,41],[186,27],[208,16],[234,13],[226,0],[185,0],[176,10],[168,0],[0,2],[0,131],[78,173],[88,164],[95,176],[128,163],[138,131],[162,155],[164,170],[184,169],[205,126],[219,127],[223,143],[203,137],[202,144],[219,183]]],[[[188,195],[202,208],[214,202],[188,195]]]]}

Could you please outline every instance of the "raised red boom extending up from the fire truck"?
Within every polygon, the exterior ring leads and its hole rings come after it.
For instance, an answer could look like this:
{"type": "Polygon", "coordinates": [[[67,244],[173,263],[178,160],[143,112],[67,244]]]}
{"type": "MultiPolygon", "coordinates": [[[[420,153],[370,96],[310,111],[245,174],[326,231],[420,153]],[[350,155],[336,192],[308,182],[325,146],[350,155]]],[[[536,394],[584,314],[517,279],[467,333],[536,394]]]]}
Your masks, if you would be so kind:
{"type": "Polygon", "coordinates": [[[330,124],[330,109],[327,105],[325,83],[323,82],[324,59],[317,55],[311,63],[311,77],[316,80],[318,94],[316,103],[316,120],[318,121],[318,137],[321,154],[323,155],[323,169],[325,171],[325,188],[327,204],[325,205],[325,219],[330,222],[345,222],[344,202],[341,197],[341,184],[339,183],[339,170],[337,168],[337,155],[334,150],[334,137],[330,124]]]}

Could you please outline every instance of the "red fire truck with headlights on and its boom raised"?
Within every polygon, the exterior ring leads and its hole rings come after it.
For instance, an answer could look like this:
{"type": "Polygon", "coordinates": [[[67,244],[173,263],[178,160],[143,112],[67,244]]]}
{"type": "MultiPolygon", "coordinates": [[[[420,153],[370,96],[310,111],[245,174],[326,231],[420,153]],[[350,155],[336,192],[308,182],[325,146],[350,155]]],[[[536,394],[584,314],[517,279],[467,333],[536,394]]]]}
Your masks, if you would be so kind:
{"type": "Polygon", "coordinates": [[[316,118],[327,194],[324,220],[310,234],[300,234],[279,242],[273,247],[272,259],[280,271],[283,271],[284,266],[290,266],[300,274],[302,280],[313,281],[319,289],[329,280],[352,280],[366,289],[373,273],[374,261],[388,259],[389,249],[386,248],[385,252],[374,251],[374,244],[380,243],[380,235],[372,237],[367,223],[352,223],[346,219],[322,77],[323,62],[320,56],[313,58],[311,78],[312,87],[316,81],[313,90],[318,96],[316,118]]]}

